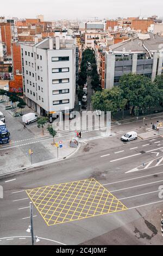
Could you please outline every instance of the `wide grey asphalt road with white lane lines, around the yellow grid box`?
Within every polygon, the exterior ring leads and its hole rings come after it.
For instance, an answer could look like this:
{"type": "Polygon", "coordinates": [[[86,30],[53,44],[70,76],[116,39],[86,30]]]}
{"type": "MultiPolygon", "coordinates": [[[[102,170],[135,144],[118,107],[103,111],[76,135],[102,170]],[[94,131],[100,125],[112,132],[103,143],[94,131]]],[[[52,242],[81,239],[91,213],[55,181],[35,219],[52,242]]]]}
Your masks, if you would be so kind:
{"type": "Polygon", "coordinates": [[[70,159],[1,179],[0,244],[30,244],[26,232],[30,199],[25,190],[92,178],[128,209],[48,226],[34,206],[35,235],[42,237],[39,244],[161,244],[162,149],[162,137],[129,143],[117,137],[96,139],[83,143],[70,159]],[[149,212],[154,216],[146,220],[149,212]]]}

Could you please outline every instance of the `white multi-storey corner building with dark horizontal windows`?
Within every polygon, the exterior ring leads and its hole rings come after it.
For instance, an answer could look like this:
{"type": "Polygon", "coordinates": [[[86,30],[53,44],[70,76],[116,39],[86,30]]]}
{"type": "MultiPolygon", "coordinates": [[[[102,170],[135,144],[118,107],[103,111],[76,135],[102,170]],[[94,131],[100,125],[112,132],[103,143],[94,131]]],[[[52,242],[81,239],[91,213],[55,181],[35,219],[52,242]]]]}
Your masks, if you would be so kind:
{"type": "Polygon", "coordinates": [[[72,110],[76,98],[76,40],[56,36],[21,44],[24,100],[40,115],[72,110]]]}

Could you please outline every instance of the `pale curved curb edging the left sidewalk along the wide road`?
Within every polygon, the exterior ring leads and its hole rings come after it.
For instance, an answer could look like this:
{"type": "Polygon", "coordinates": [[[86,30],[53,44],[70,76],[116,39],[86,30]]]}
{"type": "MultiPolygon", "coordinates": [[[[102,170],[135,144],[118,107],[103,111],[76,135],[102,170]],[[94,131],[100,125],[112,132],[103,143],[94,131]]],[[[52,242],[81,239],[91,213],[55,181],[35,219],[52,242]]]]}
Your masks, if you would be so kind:
{"type": "Polygon", "coordinates": [[[74,150],[71,154],[67,155],[67,156],[64,156],[62,159],[58,159],[58,160],[47,160],[47,161],[43,161],[43,162],[40,162],[40,163],[34,163],[32,166],[27,166],[27,167],[24,167],[24,168],[21,168],[21,169],[16,169],[16,170],[12,170],[11,172],[7,172],[7,173],[3,173],[3,174],[0,174],[0,179],[1,177],[3,178],[4,176],[8,176],[8,175],[11,175],[11,174],[16,174],[16,173],[19,173],[19,172],[23,172],[23,171],[26,171],[26,170],[30,170],[30,169],[33,169],[35,167],[40,167],[40,166],[44,166],[46,164],[51,164],[51,163],[55,163],[55,162],[60,162],[60,161],[63,161],[65,159],[68,159],[69,157],[71,157],[72,155],[74,155],[80,148],[81,148],[81,145],[82,143],[79,143],[79,146],[78,148],[76,148],[76,150],[74,150]]]}

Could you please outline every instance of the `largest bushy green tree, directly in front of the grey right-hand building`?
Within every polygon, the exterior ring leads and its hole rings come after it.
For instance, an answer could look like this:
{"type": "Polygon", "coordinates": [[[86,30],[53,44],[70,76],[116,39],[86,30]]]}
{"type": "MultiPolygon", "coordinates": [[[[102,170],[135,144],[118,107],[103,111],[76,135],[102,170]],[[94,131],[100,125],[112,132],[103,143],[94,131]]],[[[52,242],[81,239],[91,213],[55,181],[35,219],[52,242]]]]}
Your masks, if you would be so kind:
{"type": "Polygon", "coordinates": [[[120,88],[123,90],[123,97],[127,99],[128,106],[132,107],[132,115],[135,107],[146,111],[148,107],[151,109],[159,103],[158,87],[146,76],[123,75],[120,78],[120,88]]]}

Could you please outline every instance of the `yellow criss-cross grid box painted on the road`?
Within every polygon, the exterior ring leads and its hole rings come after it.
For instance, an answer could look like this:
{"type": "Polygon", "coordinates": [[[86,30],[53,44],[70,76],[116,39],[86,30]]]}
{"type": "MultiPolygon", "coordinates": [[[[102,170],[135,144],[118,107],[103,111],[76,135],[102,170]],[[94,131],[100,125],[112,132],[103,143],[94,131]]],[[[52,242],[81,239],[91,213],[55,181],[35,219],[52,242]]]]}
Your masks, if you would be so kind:
{"type": "Polygon", "coordinates": [[[33,188],[26,192],[47,225],[127,210],[95,179],[33,188]]]}

